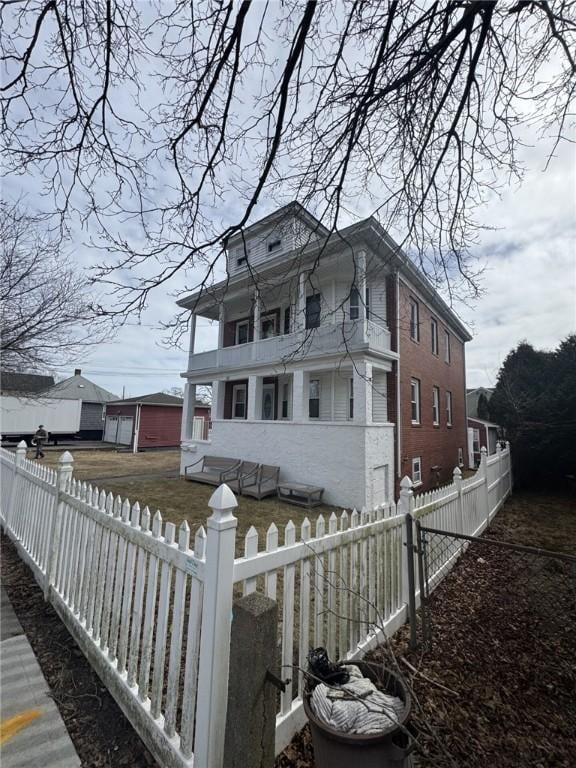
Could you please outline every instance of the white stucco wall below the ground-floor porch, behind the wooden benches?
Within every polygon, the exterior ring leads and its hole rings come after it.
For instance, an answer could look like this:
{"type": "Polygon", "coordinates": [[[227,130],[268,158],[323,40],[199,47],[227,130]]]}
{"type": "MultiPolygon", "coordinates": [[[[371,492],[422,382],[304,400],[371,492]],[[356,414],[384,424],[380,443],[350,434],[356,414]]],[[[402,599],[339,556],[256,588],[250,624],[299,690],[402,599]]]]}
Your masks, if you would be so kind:
{"type": "Polygon", "coordinates": [[[323,486],[328,504],[360,508],[384,501],[373,499],[372,469],[389,464],[392,478],[393,450],[389,425],[223,420],[211,442],[183,444],[181,472],[205,454],[278,465],[282,480],[323,486]]]}

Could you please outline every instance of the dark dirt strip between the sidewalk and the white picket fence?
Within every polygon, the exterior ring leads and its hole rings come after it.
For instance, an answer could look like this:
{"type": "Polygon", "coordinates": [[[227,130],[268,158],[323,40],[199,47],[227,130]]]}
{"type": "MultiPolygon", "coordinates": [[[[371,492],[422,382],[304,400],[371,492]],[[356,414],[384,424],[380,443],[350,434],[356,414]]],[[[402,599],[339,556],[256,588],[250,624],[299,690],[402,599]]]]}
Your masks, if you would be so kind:
{"type": "Polygon", "coordinates": [[[2,536],[2,584],[36,654],[84,768],[156,763],[126,720],[31,572],[2,536]]]}

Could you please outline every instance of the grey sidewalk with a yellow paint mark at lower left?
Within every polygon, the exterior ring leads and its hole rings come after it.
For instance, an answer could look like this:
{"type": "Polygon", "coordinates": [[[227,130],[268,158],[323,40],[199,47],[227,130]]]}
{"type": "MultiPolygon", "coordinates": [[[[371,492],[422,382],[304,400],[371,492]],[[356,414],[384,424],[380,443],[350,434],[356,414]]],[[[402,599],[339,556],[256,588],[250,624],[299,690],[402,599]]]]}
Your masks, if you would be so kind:
{"type": "Polygon", "coordinates": [[[79,768],[80,759],[2,586],[0,696],[2,768],[79,768]]]}

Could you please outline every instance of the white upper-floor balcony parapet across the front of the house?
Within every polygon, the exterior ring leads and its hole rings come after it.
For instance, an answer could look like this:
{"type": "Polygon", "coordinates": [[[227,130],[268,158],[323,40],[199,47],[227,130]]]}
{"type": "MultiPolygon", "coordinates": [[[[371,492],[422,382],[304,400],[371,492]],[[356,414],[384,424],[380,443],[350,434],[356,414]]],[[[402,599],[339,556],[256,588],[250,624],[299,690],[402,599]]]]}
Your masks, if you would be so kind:
{"type": "Polygon", "coordinates": [[[387,354],[390,353],[390,331],[371,320],[321,325],[312,330],[199,352],[190,358],[188,373],[222,368],[244,369],[360,351],[395,357],[394,354],[387,354]]]}

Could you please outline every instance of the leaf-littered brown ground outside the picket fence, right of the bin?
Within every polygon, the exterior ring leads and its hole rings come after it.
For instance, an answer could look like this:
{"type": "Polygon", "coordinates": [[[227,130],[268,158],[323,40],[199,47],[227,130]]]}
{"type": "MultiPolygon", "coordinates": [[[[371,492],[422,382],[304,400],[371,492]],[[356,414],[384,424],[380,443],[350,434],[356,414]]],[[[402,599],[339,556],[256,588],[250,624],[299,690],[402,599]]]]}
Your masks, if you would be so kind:
{"type": "MultiPolygon", "coordinates": [[[[572,499],[518,494],[489,536],[574,554],[575,526],[572,499]]],[[[546,578],[523,589],[523,578],[506,552],[471,546],[433,595],[432,648],[410,651],[403,628],[390,649],[372,654],[390,664],[393,653],[413,687],[419,768],[574,765],[575,594],[568,580],[546,578]],[[551,603],[552,611],[534,611],[534,588],[544,597],[538,605],[551,603]]],[[[311,766],[306,728],[276,768],[311,766]]]]}

